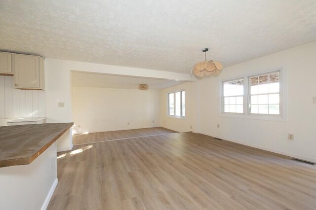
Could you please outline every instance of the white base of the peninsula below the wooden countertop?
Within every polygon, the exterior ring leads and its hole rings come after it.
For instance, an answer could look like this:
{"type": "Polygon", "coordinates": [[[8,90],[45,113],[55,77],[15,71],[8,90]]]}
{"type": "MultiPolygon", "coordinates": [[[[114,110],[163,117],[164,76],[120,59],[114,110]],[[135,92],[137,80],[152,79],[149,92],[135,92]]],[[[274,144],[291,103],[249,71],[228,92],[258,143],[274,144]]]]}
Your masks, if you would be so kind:
{"type": "Polygon", "coordinates": [[[1,210],[45,210],[57,184],[56,144],[29,165],[0,168],[1,210]]]}

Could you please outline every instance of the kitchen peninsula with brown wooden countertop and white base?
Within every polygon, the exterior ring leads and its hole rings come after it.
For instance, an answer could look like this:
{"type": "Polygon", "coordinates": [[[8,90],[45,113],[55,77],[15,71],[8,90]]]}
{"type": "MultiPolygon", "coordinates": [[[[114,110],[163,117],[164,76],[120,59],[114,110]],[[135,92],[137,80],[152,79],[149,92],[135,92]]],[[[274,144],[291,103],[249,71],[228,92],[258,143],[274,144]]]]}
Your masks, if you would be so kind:
{"type": "Polygon", "coordinates": [[[56,140],[72,125],[0,127],[0,209],[46,209],[58,182],[56,140]]]}

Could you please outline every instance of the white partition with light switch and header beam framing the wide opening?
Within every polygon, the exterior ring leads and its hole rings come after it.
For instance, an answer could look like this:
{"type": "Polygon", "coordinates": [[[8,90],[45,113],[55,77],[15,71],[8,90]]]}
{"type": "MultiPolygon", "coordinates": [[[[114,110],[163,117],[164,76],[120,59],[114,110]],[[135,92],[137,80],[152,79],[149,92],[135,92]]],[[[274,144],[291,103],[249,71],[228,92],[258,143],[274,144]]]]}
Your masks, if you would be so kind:
{"type": "MultiPolygon", "coordinates": [[[[195,80],[190,74],[158,70],[144,70],[128,67],[117,67],[102,64],[91,64],[76,61],[45,59],[45,95],[46,122],[72,122],[71,107],[71,70],[106,73],[113,75],[130,75],[149,78],[174,79],[181,81],[195,80]],[[64,102],[64,107],[58,107],[58,102],[64,102]]],[[[70,132],[57,140],[57,150],[64,151],[72,148],[70,132]]]]}

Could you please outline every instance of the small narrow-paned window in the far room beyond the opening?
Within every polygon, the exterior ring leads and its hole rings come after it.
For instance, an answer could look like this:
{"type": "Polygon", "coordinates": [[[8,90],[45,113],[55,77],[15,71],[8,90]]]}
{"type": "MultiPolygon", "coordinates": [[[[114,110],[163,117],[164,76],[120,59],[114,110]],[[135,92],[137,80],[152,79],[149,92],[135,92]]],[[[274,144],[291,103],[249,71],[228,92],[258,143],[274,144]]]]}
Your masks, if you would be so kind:
{"type": "Polygon", "coordinates": [[[168,93],[168,115],[185,117],[185,91],[168,93]]]}

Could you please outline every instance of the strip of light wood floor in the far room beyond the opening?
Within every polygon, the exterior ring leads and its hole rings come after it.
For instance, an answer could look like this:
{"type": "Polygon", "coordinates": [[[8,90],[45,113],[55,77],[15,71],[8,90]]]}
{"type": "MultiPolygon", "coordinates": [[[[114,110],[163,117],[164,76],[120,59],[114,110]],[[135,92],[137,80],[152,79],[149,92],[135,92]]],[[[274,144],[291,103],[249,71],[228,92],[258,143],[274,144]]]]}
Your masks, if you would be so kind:
{"type": "Polygon", "coordinates": [[[107,132],[89,133],[89,134],[74,136],[73,144],[78,145],[78,144],[99,142],[99,141],[105,141],[105,140],[128,139],[128,138],[135,138],[135,137],[145,137],[145,136],[154,136],[154,135],[171,134],[171,133],[177,133],[177,132],[166,129],[166,128],[162,128],[162,127],[156,127],[156,128],[131,129],[131,130],[123,130],[123,131],[107,131],[107,132]]]}

